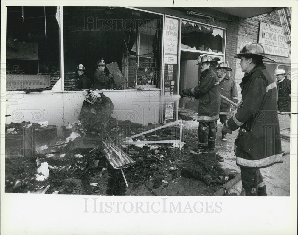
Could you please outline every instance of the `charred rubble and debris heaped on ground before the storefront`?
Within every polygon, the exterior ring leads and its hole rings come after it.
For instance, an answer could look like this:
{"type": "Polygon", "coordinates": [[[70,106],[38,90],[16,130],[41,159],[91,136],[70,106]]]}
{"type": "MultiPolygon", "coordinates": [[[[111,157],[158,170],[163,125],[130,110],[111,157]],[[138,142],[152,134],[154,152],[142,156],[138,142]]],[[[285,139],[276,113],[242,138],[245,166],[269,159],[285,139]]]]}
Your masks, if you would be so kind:
{"type": "Polygon", "coordinates": [[[133,195],[142,188],[147,195],[159,195],[171,187],[171,195],[177,195],[181,189],[175,185],[193,177],[212,195],[228,179],[215,153],[200,158],[188,153],[197,142],[195,134],[183,133],[186,144],[181,150],[173,147],[180,138],[177,123],[141,126],[116,120],[106,115],[114,109],[108,97],[100,93],[91,101],[83,104],[79,120],[63,126],[63,137],[47,123],[6,125],[5,192],[125,195],[128,185],[133,195]],[[123,144],[129,136],[140,144],[123,144]],[[169,143],[155,144],[160,140],[169,143]]]}

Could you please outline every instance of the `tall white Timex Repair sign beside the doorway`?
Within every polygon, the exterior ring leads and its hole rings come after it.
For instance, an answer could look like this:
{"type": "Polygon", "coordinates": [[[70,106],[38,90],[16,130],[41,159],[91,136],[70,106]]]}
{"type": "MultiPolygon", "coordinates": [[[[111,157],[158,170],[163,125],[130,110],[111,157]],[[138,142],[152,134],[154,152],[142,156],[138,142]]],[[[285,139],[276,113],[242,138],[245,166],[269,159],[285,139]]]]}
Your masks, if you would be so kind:
{"type": "Polygon", "coordinates": [[[164,63],[177,64],[178,19],[166,18],[164,25],[164,63]]]}

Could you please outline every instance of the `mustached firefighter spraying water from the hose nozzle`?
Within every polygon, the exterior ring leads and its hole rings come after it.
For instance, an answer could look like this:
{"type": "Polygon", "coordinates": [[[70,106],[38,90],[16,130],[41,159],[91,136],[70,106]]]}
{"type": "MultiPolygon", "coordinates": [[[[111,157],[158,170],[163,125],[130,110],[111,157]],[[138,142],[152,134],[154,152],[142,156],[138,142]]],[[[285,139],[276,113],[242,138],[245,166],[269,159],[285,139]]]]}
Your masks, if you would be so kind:
{"type": "Polygon", "coordinates": [[[199,100],[198,105],[198,148],[190,151],[192,154],[202,154],[208,149],[215,149],[216,122],[219,118],[220,92],[219,82],[212,64],[217,61],[204,55],[199,63],[201,76],[198,86],[183,89],[183,96],[193,96],[199,100]]]}

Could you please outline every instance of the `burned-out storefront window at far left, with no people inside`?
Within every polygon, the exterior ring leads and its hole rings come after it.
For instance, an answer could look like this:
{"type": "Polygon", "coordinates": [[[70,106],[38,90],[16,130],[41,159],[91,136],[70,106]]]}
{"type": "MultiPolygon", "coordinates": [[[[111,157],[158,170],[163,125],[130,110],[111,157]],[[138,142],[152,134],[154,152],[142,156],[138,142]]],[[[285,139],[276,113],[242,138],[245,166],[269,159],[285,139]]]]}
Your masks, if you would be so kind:
{"type": "Polygon", "coordinates": [[[51,89],[60,75],[57,7],[7,7],[6,90],[51,89]]]}

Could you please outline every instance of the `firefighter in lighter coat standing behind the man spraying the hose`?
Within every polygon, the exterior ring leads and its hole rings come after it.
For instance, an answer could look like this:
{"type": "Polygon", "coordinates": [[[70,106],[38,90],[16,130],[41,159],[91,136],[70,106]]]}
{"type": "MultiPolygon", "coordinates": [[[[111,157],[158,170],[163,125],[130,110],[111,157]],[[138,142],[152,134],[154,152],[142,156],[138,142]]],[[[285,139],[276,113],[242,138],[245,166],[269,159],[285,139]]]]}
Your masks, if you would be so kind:
{"type": "MultiPolygon", "coordinates": [[[[227,71],[232,71],[233,69],[229,68],[228,64],[225,62],[219,63],[216,69],[216,74],[219,79],[219,90],[221,92],[221,95],[225,96],[229,100],[232,100],[234,103],[238,103],[238,92],[236,82],[227,74],[227,71]]],[[[221,108],[219,111],[219,121],[221,122],[221,124],[228,120],[228,115],[231,115],[230,108],[231,105],[224,99],[221,99],[221,108]]],[[[235,110],[234,108],[235,107],[233,106],[233,111],[235,110]]],[[[221,133],[221,140],[227,141],[225,133],[221,133]]]]}

